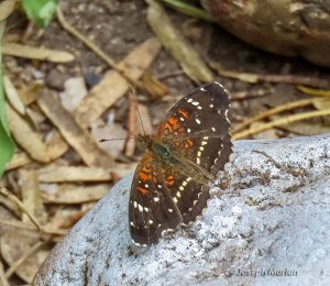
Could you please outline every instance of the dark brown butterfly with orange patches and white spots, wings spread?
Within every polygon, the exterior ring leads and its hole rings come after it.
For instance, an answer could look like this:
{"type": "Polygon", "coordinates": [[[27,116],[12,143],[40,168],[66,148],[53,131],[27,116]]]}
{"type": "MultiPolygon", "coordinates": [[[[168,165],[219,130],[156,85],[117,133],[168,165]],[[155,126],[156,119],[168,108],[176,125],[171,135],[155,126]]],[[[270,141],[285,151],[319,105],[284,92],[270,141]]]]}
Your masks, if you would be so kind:
{"type": "Polygon", "coordinates": [[[199,216],[209,185],[232,152],[229,97],[217,81],[182,98],[154,136],[138,135],[145,151],[136,167],[129,200],[129,227],[138,245],[160,238],[199,216]]]}

